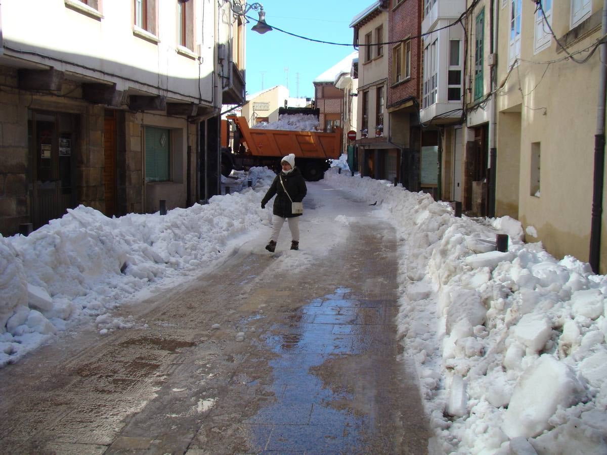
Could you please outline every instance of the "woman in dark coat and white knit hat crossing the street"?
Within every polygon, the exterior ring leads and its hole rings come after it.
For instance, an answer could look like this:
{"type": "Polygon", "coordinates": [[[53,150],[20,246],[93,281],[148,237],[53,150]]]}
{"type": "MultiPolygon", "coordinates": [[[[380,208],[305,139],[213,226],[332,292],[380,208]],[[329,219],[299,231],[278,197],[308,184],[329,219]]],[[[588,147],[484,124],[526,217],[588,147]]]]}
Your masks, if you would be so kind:
{"type": "Polygon", "coordinates": [[[272,235],[266,245],[266,250],[274,252],[280,229],[288,220],[291,231],[291,249],[299,249],[299,217],[301,213],[293,213],[293,203],[304,200],[308,192],[305,180],[300,170],[295,167],[295,155],[290,153],[280,161],[282,171],[274,178],[268,192],[262,199],[262,209],[276,195],[272,217],[272,235]]]}

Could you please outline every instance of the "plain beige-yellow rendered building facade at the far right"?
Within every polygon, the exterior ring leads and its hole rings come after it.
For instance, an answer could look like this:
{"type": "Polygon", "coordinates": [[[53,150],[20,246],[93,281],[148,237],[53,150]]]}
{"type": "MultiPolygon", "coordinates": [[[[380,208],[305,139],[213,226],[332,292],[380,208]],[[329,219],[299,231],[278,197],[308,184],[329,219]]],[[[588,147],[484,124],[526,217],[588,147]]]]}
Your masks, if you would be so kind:
{"type": "MultiPolygon", "coordinates": [[[[496,215],[534,228],[528,232],[537,237],[527,234],[528,241],[541,240],[555,257],[600,263],[605,273],[605,212],[597,217],[602,229],[595,232],[601,246],[591,246],[594,136],[597,123],[605,123],[597,115],[597,106],[605,102],[599,96],[602,63],[596,49],[603,2],[541,4],[540,10],[532,2],[503,0],[494,8],[496,186],[488,197],[495,198],[496,215]]],[[[603,190],[597,206],[604,201],[603,190]]]]}

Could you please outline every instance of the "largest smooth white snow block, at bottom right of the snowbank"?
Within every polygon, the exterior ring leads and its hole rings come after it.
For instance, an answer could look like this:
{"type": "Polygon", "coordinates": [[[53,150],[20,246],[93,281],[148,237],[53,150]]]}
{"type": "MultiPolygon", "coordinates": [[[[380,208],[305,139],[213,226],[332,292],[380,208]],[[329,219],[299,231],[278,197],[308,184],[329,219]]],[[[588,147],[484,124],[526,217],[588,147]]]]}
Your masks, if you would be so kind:
{"type": "Polygon", "coordinates": [[[584,387],[565,363],[543,354],[518,380],[501,429],[510,438],[535,437],[548,430],[557,406],[569,408],[584,387]]]}

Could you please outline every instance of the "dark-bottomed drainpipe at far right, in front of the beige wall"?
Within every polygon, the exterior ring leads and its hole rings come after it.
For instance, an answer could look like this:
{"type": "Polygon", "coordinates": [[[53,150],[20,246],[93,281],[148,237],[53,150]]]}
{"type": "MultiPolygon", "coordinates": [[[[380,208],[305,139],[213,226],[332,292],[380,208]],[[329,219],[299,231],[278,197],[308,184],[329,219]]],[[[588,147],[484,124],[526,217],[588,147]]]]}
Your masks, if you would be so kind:
{"type": "MultiPolygon", "coordinates": [[[[607,0],[603,0],[601,36],[607,33],[607,0]]],[[[594,186],[592,189],[592,220],[590,226],[590,266],[599,273],[601,229],[603,217],[603,175],[605,173],[605,85],[607,84],[607,43],[600,45],[599,105],[597,133],[594,135],[594,186]]]]}

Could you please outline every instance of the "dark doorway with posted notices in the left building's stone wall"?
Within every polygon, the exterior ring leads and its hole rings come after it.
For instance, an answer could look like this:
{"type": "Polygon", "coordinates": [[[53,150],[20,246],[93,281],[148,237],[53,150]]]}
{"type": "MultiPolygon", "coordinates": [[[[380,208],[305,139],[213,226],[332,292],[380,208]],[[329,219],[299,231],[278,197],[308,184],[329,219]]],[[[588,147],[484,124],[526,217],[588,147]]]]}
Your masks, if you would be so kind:
{"type": "Polygon", "coordinates": [[[73,157],[77,151],[78,115],[29,110],[27,133],[32,159],[34,229],[75,207],[73,157]]]}

